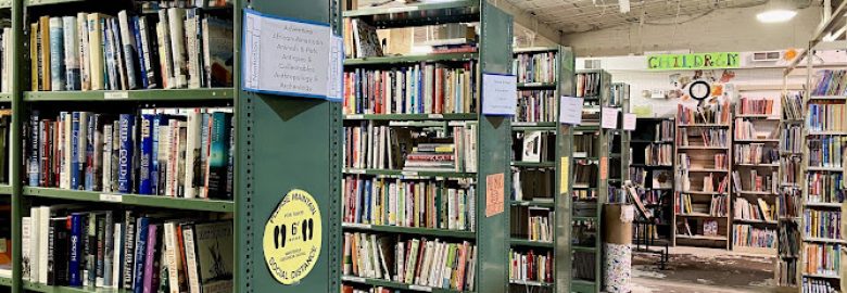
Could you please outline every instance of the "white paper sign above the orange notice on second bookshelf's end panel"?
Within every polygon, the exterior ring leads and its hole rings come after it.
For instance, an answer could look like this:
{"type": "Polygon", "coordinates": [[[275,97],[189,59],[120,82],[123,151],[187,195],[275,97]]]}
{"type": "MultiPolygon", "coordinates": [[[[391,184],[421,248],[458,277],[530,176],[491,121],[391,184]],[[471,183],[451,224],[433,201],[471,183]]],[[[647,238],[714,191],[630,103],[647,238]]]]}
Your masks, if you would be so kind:
{"type": "Polygon", "coordinates": [[[518,79],[514,75],[482,75],[482,114],[513,116],[518,106],[518,79]]]}

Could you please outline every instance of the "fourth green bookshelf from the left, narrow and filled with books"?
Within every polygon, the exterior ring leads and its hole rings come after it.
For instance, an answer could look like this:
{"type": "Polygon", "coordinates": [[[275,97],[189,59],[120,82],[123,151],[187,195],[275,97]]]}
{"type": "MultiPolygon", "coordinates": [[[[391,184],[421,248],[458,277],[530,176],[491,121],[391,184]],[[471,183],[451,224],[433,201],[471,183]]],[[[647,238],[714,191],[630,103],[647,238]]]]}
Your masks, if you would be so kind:
{"type": "Polygon", "coordinates": [[[615,129],[602,129],[603,105],[610,103],[611,75],[590,69],[577,73],[576,97],[584,99],[582,124],[573,131],[571,191],[571,292],[602,289],[603,227],[601,211],[609,199],[610,157],[615,129]]]}

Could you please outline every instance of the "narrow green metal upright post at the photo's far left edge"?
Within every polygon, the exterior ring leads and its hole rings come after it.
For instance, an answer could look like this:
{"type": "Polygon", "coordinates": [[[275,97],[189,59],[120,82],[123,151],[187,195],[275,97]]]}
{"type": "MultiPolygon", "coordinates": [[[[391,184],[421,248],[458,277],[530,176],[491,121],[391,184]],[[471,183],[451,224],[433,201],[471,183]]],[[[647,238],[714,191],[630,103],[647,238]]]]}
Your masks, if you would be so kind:
{"type": "MultiPolygon", "coordinates": [[[[23,145],[21,139],[23,133],[23,106],[22,106],[22,75],[24,72],[24,1],[12,0],[12,129],[10,137],[12,157],[10,158],[12,168],[9,175],[9,184],[12,187],[12,292],[23,292],[23,257],[21,255],[22,219],[24,217],[24,203],[21,193],[22,169],[23,166],[23,145]]],[[[3,168],[5,166],[2,166],[3,168]]]]}

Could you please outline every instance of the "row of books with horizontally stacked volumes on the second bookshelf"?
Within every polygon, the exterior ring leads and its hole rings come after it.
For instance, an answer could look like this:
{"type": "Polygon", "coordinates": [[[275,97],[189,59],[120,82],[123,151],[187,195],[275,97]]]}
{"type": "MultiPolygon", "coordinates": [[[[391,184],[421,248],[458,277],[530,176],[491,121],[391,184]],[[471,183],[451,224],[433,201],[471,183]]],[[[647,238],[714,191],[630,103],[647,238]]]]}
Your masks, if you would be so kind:
{"type": "Polygon", "coordinates": [[[372,122],[344,127],[344,167],[475,171],[476,124],[447,129],[452,131],[378,126],[372,122]]]}

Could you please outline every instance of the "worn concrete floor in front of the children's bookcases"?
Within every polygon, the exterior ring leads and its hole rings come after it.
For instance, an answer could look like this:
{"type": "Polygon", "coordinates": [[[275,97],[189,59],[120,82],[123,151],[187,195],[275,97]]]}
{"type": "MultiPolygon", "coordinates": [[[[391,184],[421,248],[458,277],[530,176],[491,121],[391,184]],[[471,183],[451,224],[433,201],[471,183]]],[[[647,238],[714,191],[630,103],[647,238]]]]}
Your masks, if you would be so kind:
{"type": "Polygon", "coordinates": [[[724,250],[671,247],[666,270],[658,257],[635,254],[633,293],[736,293],[776,292],[774,258],[724,250]]]}

